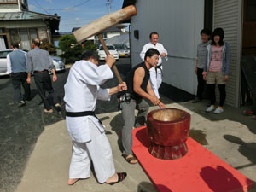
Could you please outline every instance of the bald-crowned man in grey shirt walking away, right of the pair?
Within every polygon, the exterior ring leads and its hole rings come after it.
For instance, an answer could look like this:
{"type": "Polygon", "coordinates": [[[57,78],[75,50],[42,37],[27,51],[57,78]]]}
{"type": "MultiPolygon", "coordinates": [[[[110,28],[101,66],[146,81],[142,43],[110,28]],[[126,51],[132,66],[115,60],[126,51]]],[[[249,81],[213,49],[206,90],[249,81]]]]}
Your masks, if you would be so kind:
{"type": "Polygon", "coordinates": [[[32,39],[32,50],[26,55],[27,61],[27,79],[26,82],[31,84],[31,73],[34,73],[35,83],[37,85],[39,96],[41,96],[44,102],[44,113],[53,113],[53,109],[49,103],[49,99],[52,99],[57,111],[61,111],[61,105],[58,102],[58,98],[55,95],[55,90],[52,87],[49,69],[53,73],[52,80],[55,82],[57,76],[55,73],[55,66],[49,55],[49,52],[39,48],[40,40],[38,38],[32,39]],[[45,92],[49,93],[49,97],[46,96],[45,92]]]}

